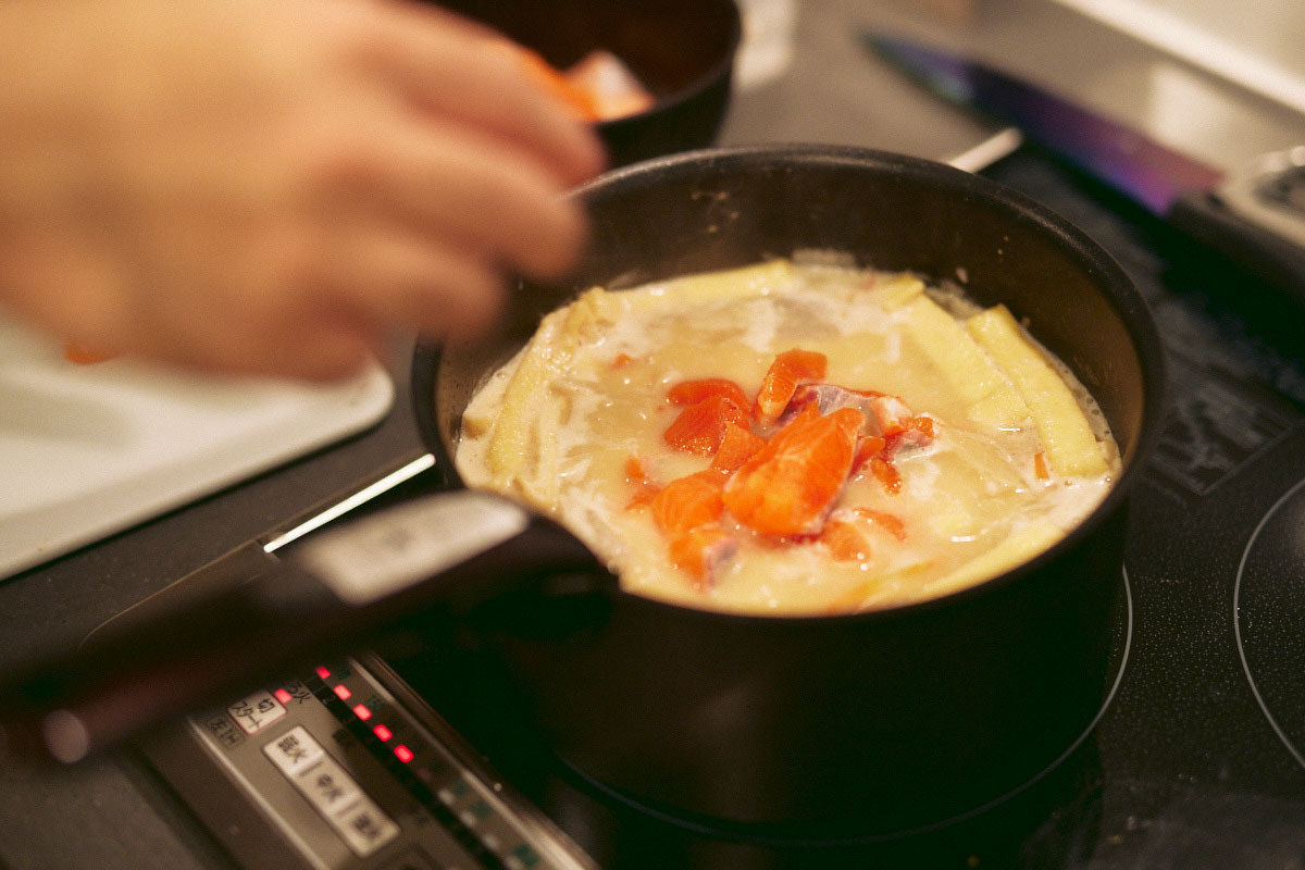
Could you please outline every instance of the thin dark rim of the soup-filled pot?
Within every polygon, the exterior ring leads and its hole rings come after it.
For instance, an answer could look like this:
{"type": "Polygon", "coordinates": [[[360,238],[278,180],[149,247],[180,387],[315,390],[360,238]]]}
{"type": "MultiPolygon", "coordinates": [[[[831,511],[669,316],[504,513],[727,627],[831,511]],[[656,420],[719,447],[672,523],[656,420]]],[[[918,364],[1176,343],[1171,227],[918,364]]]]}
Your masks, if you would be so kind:
{"type": "MultiPolygon", "coordinates": [[[[1122,471],[1118,480],[1107,493],[1105,498],[1061,540],[1043,550],[1034,558],[1018,565],[1014,569],[997,574],[981,583],[968,586],[963,590],[950,592],[923,601],[912,601],[895,607],[857,610],[852,613],[799,613],[799,614],[767,614],[756,612],[731,612],[694,608],[685,604],[676,604],[662,599],[649,597],[628,592],[620,587],[619,582],[611,584],[612,593],[632,600],[639,607],[652,609],[666,609],[683,614],[684,618],[706,620],[709,622],[727,622],[729,625],[756,623],[760,626],[783,626],[786,630],[793,626],[825,626],[848,623],[874,623],[895,622],[898,620],[915,618],[919,614],[933,613],[955,607],[964,607],[970,601],[988,595],[994,595],[1018,584],[1026,577],[1041,571],[1051,563],[1058,561],[1065,553],[1079,547],[1084,539],[1091,536],[1116,511],[1121,510],[1129,497],[1129,492],[1146,471],[1146,460],[1151,455],[1155,443],[1159,441],[1160,421],[1167,406],[1165,398],[1165,360],[1160,335],[1151,314],[1150,305],[1137,290],[1133,280],[1124,271],[1122,266],[1094,239],[1079,230],[1066,218],[1040,202],[983,176],[977,176],[963,170],[958,170],[946,163],[929,160],[925,158],[867,149],[848,145],[823,145],[812,142],[784,142],[761,145],[735,145],[680,151],[676,154],[641,160],[625,167],[611,170],[603,175],[582,184],[566,196],[568,198],[581,198],[603,190],[626,179],[639,179],[643,176],[656,176],[688,166],[701,166],[703,163],[758,163],[766,160],[782,160],[792,166],[853,166],[878,171],[890,171],[914,175],[928,179],[936,184],[945,184],[955,188],[960,196],[988,200],[1009,211],[1015,213],[1019,219],[1027,220],[1037,227],[1036,231],[1049,235],[1061,245],[1070,248],[1077,257],[1084,262],[1091,273],[1096,273],[1098,283],[1111,288],[1107,301],[1120,314],[1125,330],[1131,340],[1138,356],[1142,374],[1142,420],[1138,429],[1137,441],[1133,443],[1129,455],[1121,455],[1122,471]]],[[[438,425],[435,421],[435,385],[438,372],[441,346],[437,343],[418,342],[412,357],[412,398],[416,404],[418,427],[428,450],[436,457],[436,463],[446,476],[450,488],[466,488],[466,483],[457,472],[453,457],[445,449],[440,437],[438,425]],[[423,398],[424,397],[424,398],[423,398]],[[431,413],[423,412],[423,404],[428,406],[431,413]]],[[[615,580],[613,575],[613,580],[615,580]]]]}

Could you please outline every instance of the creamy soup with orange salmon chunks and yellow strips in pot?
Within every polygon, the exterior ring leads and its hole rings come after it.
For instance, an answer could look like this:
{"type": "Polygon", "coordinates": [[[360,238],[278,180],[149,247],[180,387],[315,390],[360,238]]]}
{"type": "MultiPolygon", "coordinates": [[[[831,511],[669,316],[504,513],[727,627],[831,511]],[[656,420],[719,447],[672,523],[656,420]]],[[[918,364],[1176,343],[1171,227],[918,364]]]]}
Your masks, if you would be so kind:
{"type": "Polygon", "coordinates": [[[1091,395],[1004,307],[829,257],[582,293],[478,390],[455,462],[630,592],[766,614],[980,583],[1120,472],[1091,395]]]}

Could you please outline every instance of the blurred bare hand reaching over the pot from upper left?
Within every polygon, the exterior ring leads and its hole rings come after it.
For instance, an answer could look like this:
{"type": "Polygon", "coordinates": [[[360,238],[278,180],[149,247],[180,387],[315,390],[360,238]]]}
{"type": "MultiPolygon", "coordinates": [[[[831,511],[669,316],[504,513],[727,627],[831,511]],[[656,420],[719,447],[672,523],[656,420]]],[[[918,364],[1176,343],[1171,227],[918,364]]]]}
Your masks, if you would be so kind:
{"type": "MultiPolygon", "coordinates": [[[[174,8],[209,9],[159,7],[174,8]]],[[[585,215],[562,194],[602,168],[603,153],[510,51],[406,0],[342,3],[331,14],[307,1],[277,8],[286,26],[273,39],[265,4],[214,7],[230,14],[226,26],[251,26],[245,63],[201,53],[193,69],[150,65],[174,70],[185,100],[202,90],[213,98],[202,106],[241,111],[177,113],[164,100],[140,137],[119,143],[132,159],[93,162],[121,176],[95,188],[117,198],[102,218],[65,197],[68,244],[93,262],[51,257],[50,269],[86,274],[29,282],[34,296],[87,288],[81,304],[69,295],[47,305],[47,321],[189,368],[334,378],[394,327],[483,331],[502,303],[501,269],[551,278],[574,262],[585,215]],[[248,10],[257,18],[240,18],[248,10]],[[157,153],[128,151],[144,146],[157,153]]],[[[158,82],[149,85],[124,93],[146,100],[158,82]]]]}

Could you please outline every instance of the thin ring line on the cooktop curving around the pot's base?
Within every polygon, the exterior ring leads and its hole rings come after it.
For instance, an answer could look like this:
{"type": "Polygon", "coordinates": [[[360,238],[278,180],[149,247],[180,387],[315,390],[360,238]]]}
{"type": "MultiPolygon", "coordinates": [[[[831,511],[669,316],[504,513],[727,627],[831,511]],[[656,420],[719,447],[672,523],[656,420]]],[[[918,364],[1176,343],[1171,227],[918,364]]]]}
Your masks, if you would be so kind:
{"type": "MultiPolygon", "coordinates": [[[[1302,481],[1302,483],[1305,483],[1305,481],[1302,481]]],[[[919,827],[914,827],[914,828],[908,828],[908,830],[902,830],[902,831],[893,831],[890,833],[868,835],[868,836],[850,836],[850,837],[831,837],[831,839],[813,839],[813,837],[801,837],[801,836],[793,836],[793,837],[790,837],[790,836],[766,836],[766,835],[758,835],[758,833],[754,833],[754,832],[744,832],[741,836],[737,836],[737,839],[741,840],[741,841],[756,844],[756,845],[774,847],[774,848],[864,845],[864,844],[876,844],[876,843],[889,843],[889,841],[893,841],[893,840],[904,840],[907,837],[914,837],[914,836],[919,836],[919,835],[924,835],[924,833],[930,833],[933,831],[940,831],[940,830],[950,827],[953,824],[959,824],[959,823],[966,822],[968,819],[972,819],[975,817],[983,815],[984,813],[988,813],[988,811],[996,809],[997,806],[1000,806],[1000,805],[1002,805],[1002,803],[1005,803],[1005,802],[1007,802],[1007,801],[1018,797],[1023,792],[1028,790],[1030,788],[1032,788],[1034,785],[1036,785],[1037,783],[1040,783],[1052,771],[1054,771],[1057,767],[1060,767],[1061,764],[1064,764],[1071,755],[1074,755],[1074,753],[1077,753],[1079,750],[1079,747],[1083,746],[1083,743],[1088,740],[1088,737],[1092,736],[1092,732],[1096,730],[1096,727],[1101,723],[1101,719],[1105,716],[1105,711],[1108,711],[1111,708],[1111,704],[1114,702],[1114,697],[1118,694],[1120,685],[1124,682],[1124,673],[1128,669],[1128,663],[1129,663],[1129,652],[1133,648],[1133,586],[1129,582],[1129,570],[1128,570],[1126,566],[1120,566],[1120,577],[1121,577],[1121,579],[1124,582],[1124,595],[1122,595],[1122,599],[1121,599],[1121,605],[1122,605],[1122,609],[1124,609],[1124,613],[1122,613],[1124,625],[1118,626],[1118,613],[1117,612],[1120,610],[1120,607],[1116,607],[1116,613],[1117,613],[1117,616],[1116,616],[1116,626],[1117,626],[1117,630],[1120,630],[1120,634],[1116,635],[1114,642],[1111,644],[1111,659],[1112,660],[1117,659],[1117,661],[1113,663],[1113,668],[1116,669],[1114,670],[1114,681],[1111,683],[1109,691],[1105,693],[1105,698],[1101,700],[1100,708],[1096,711],[1096,715],[1092,717],[1092,721],[1090,721],[1087,724],[1087,728],[1083,729],[1083,733],[1081,733],[1077,738],[1074,738],[1074,741],[1065,749],[1065,751],[1062,751],[1060,755],[1057,755],[1053,762],[1051,762],[1041,771],[1039,771],[1037,773],[1035,773],[1034,776],[1031,776],[1030,779],[1027,779],[1024,783],[1022,783],[1021,785],[1017,785],[1015,788],[1010,789],[1005,794],[994,797],[993,800],[990,800],[990,801],[988,801],[985,803],[981,803],[981,805],[979,805],[979,806],[976,806],[974,809],[966,810],[964,813],[958,813],[957,815],[953,815],[953,817],[946,818],[946,819],[941,819],[938,822],[930,822],[929,824],[921,824],[919,827]]],[[[664,823],[673,824],[673,826],[676,826],[679,828],[683,828],[683,830],[689,831],[689,832],[696,833],[696,835],[706,835],[706,836],[719,835],[719,831],[716,831],[715,828],[713,828],[709,824],[701,824],[701,823],[697,823],[697,822],[694,822],[692,819],[686,819],[686,818],[683,818],[683,817],[672,815],[669,813],[663,813],[662,810],[658,810],[656,807],[641,803],[639,801],[633,800],[632,797],[629,797],[626,794],[622,794],[621,792],[616,792],[616,790],[608,788],[607,785],[604,785],[603,783],[595,780],[594,777],[587,776],[585,773],[585,771],[579,770],[578,767],[576,767],[573,764],[568,764],[565,759],[561,759],[561,762],[562,762],[562,764],[566,764],[568,770],[570,770],[574,775],[577,775],[578,777],[581,777],[590,788],[596,789],[602,794],[604,794],[604,796],[607,796],[607,797],[617,801],[619,803],[622,803],[622,805],[625,805],[625,806],[628,806],[628,807],[630,807],[633,810],[637,810],[638,813],[643,813],[643,814],[650,815],[652,818],[656,818],[656,819],[659,819],[659,820],[662,820],[664,823]]]]}

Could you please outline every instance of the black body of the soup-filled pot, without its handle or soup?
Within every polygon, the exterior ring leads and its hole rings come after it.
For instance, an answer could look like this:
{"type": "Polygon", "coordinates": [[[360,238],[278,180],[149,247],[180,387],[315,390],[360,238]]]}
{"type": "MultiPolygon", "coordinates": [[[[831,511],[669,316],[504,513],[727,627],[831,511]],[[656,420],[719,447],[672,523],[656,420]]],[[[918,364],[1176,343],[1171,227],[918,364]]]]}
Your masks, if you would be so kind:
{"type": "Polygon", "coordinates": [[[1161,412],[1160,343],[1109,256],[992,181],[867,150],[680,154],[577,196],[594,239],[574,280],[523,287],[492,340],[415,353],[419,425],[454,481],[450,454],[475,387],[578,290],[810,248],[959,280],[976,301],[1009,305],[1096,397],[1124,471],[1048,552],[921,604],[736,616],[608,583],[581,627],[539,631],[529,626],[540,627],[540,603],[499,601],[488,647],[512,674],[504,691],[521,693],[548,745],[600,788],[681,818],[873,833],[1000,797],[1081,740],[1108,682],[1125,500],[1161,412]]]}

